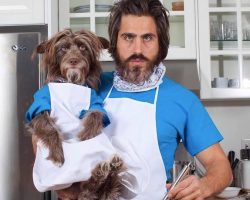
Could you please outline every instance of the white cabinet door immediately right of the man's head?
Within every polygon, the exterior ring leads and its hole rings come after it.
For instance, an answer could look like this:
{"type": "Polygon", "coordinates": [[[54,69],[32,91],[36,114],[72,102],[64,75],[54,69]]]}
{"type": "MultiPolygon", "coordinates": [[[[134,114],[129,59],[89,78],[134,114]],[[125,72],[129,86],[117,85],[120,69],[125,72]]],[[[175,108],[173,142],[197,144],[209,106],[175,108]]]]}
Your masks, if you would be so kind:
{"type": "Polygon", "coordinates": [[[170,49],[166,59],[196,59],[195,1],[162,2],[170,15],[170,49]]]}

